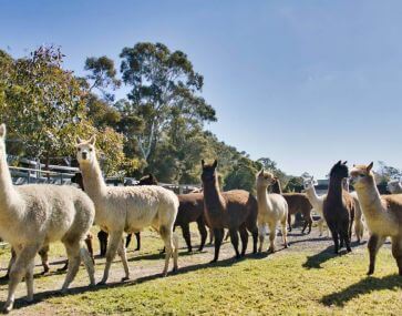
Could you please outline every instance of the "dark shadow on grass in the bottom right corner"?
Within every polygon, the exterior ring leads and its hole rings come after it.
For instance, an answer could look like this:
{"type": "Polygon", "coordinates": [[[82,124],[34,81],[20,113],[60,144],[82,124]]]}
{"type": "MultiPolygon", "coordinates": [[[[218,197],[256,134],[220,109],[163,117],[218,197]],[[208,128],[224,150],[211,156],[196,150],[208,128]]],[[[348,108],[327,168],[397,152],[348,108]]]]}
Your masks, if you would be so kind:
{"type": "Polygon", "coordinates": [[[381,278],[369,276],[351,286],[334,292],[332,294],[326,295],[320,299],[320,303],[330,306],[343,306],[349,300],[353,299],[363,294],[371,293],[373,290],[381,289],[400,289],[402,287],[402,276],[399,275],[388,275],[381,278]]]}

